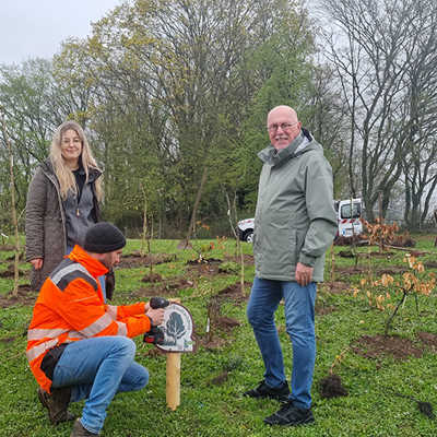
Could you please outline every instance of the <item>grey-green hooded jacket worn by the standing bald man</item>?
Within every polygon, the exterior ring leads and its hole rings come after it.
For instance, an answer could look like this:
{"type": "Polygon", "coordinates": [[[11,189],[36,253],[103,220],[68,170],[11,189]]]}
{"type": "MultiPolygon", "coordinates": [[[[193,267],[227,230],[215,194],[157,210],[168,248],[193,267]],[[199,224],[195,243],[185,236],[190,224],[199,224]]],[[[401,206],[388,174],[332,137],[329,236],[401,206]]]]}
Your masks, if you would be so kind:
{"type": "Polygon", "coordinates": [[[258,156],[262,166],[255,215],[256,275],[295,281],[297,262],[323,281],[324,252],[336,233],[332,170],[322,146],[308,131],[285,149],[272,145],[258,156]]]}

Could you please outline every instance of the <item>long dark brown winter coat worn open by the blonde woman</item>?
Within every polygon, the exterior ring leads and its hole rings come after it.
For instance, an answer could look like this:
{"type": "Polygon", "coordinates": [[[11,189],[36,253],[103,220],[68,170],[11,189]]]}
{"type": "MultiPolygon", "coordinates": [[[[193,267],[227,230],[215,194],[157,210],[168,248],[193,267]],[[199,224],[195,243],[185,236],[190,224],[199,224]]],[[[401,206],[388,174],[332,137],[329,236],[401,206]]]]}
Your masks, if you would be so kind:
{"type": "MultiPolygon", "coordinates": [[[[96,200],[94,204],[97,221],[96,200]]],[[[43,258],[43,268],[40,270],[33,268],[31,273],[31,286],[39,290],[46,277],[62,261],[67,251],[66,214],[58,178],[49,161],[37,167],[28,187],[25,227],[26,261],[43,258]]]]}

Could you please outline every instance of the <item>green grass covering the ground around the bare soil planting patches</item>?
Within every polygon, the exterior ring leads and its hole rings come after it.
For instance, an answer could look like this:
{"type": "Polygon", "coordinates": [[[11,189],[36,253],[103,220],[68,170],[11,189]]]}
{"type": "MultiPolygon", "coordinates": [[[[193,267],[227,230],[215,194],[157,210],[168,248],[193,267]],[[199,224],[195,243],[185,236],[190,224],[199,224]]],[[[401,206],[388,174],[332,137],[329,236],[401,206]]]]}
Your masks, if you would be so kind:
{"type": "MultiPolygon", "coordinates": [[[[210,240],[196,241],[196,247],[208,245],[210,240]]],[[[170,263],[154,267],[154,272],[164,279],[188,277],[187,260],[197,257],[192,250],[178,250],[176,240],[155,240],[154,253],[177,253],[170,263]]],[[[129,240],[125,250],[129,253],[138,250],[139,240],[129,240]]],[[[246,253],[251,246],[244,244],[246,253]]],[[[347,250],[336,247],[335,251],[347,250]]],[[[361,248],[367,251],[367,248],[361,248]]],[[[376,250],[376,248],[371,248],[376,250]]],[[[424,262],[433,261],[437,250],[434,236],[421,236],[414,250],[427,250],[432,255],[421,257],[424,262]]],[[[224,258],[235,255],[235,241],[227,240],[222,249],[205,253],[206,257],[224,258]]],[[[0,252],[0,271],[4,270],[7,252],[0,252]]],[[[404,252],[398,252],[389,259],[373,259],[371,268],[403,265],[404,252]]],[[[330,257],[327,259],[329,280],[330,257]]],[[[9,261],[10,262],[10,261],[9,261]]],[[[359,265],[367,261],[361,260],[359,265]]],[[[352,265],[353,260],[335,257],[336,268],[352,265]]],[[[25,264],[22,265],[25,268],[25,264]]],[[[133,293],[141,287],[153,287],[141,279],[147,268],[118,269],[116,271],[115,304],[133,303],[133,293]]],[[[246,281],[253,279],[253,265],[246,265],[246,281]]],[[[359,275],[340,277],[357,284],[359,275]]],[[[238,274],[231,269],[228,274],[196,279],[191,287],[175,291],[194,319],[197,332],[204,335],[206,324],[206,300],[209,295],[238,281],[238,274]]],[[[21,279],[25,283],[26,279],[21,279]]],[[[156,284],[155,286],[158,286],[156,284]]],[[[12,280],[0,279],[0,294],[12,290],[12,280]]],[[[249,292],[249,291],[247,291],[249,292]]],[[[316,423],[310,426],[290,428],[265,427],[262,420],[277,410],[274,401],[257,401],[241,397],[241,392],[262,379],[263,366],[256,345],[251,328],[246,319],[245,305],[236,306],[228,302],[222,312],[236,318],[241,326],[231,334],[214,332],[214,335],[227,339],[224,347],[206,351],[200,347],[196,354],[186,354],[181,361],[181,404],[172,412],[166,406],[166,358],[147,356],[152,346],[144,346],[137,339],[137,361],[149,368],[150,385],[140,392],[123,393],[115,398],[108,410],[104,436],[437,436],[437,421],[430,421],[421,414],[413,401],[393,397],[390,390],[397,390],[422,401],[432,402],[437,409],[437,356],[429,349],[424,350],[421,358],[395,361],[390,356],[368,359],[353,353],[351,342],[362,335],[375,335],[383,332],[386,312],[370,309],[368,305],[350,294],[330,294],[322,286],[318,291],[318,305],[332,306],[334,311],[317,316],[316,333],[318,355],[316,359],[315,383],[312,388],[314,413],[316,423]],[[318,382],[328,375],[329,368],[341,352],[342,359],[334,367],[341,376],[349,397],[321,399],[318,382]],[[221,386],[210,380],[228,369],[228,379],[221,386]]],[[[416,315],[414,299],[409,298],[400,317],[394,319],[392,333],[417,342],[416,332],[437,333],[437,298],[420,297],[421,316],[416,315]]],[[[66,436],[71,424],[52,428],[46,411],[36,398],[36,382],[27,366],[24,351],[25,330],[32,317],[32,307],[0,308],[0,437],[66,436]],[[7,341],[7,339],[9,339],[7,341]]],[[[277,326],[283,344],[285,366],[290,376],[292,367],[291,344],[284,330],[282,306],[277,311],[277,326]]],[[[73,404],[71,410],[80,414],[83,403],[73,404]]]]}

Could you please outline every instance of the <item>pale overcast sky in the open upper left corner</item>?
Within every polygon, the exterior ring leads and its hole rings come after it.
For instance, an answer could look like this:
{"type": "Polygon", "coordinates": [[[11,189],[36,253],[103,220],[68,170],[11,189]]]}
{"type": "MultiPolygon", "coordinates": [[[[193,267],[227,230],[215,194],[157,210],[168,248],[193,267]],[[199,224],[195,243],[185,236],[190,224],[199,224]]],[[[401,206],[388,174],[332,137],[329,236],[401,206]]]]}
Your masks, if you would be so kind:
{"type": "Polygon", "coordinates": [[[122,0],[0,0],[0,63],[51,57],[122,0]]]}

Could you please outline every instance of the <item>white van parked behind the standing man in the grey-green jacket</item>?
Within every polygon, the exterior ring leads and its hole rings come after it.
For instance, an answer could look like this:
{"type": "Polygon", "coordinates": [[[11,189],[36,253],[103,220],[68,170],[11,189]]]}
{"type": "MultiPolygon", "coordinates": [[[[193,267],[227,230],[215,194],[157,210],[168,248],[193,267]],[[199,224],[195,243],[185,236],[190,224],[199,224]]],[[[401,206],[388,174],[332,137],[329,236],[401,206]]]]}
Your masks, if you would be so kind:
{"type": "MultiPolygon", "coordinates": [[[[361,199],[335,200],[338,232],[336,237],[352,237],[363,233],[361,217],[363,206],[361,199]]],[[[237,225],[238,237],[241,241],[252,243],[255,218],[240,220],[237,225]]]]}

